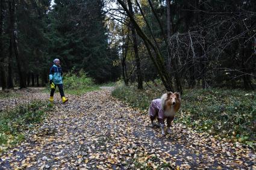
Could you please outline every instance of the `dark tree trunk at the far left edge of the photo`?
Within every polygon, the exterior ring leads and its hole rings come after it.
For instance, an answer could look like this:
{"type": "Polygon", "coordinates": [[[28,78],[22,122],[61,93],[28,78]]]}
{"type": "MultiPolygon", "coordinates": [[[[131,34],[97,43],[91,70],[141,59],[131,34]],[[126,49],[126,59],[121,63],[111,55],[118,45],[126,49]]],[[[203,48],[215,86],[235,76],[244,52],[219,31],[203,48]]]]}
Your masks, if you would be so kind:
{"type": "Polygon", "coordinates": [[[4,68],[4,49],[2,44],[2,37],[4,35],[4,0],[0,1],[0,81],[2,90],[7,88],[7,80],[4,68]]]}

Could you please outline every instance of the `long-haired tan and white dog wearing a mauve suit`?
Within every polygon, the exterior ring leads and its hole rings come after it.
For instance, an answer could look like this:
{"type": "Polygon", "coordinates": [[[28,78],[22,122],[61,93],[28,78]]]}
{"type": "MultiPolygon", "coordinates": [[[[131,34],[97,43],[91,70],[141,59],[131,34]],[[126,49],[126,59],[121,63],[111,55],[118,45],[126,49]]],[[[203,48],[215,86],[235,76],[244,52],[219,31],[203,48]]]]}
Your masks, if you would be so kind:
{"type": "Polygon", "coordinates": [[[175,117],[175,113],[180,109],[180,107],[180,93],[168,92],[163,94],[163,96],[161,96],[161,99],[152,100],[148,109],[148,115],[151,119],[152,127],[160,126],[162,135],[165,135],[164,120],[167,119],[167,133],[170,134],[170,124],[175,117]],[[154,124],[155,119],[158,120],[158,125],[154,124]]]}

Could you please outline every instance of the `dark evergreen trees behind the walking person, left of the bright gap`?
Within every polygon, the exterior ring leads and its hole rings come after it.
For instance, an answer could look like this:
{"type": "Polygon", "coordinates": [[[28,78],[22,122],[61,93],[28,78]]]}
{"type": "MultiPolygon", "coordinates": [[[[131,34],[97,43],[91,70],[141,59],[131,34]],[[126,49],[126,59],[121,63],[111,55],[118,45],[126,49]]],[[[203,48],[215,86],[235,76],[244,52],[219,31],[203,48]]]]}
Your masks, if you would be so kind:
{"type": "Polygon", "coordinates": [[[102,1],[1,0],[1,86],[48,83],[55,58],[64,72],[83,69],[96,82],[120,75],[108,44],[102,1]]]}

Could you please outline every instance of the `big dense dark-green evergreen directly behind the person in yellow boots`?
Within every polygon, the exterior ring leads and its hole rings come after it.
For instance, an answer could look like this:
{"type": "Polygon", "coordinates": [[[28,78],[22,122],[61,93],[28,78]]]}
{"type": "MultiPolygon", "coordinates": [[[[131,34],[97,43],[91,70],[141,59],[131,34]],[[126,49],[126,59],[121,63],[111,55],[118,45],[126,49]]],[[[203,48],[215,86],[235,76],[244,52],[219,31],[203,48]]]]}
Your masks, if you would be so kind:
{"type": "Polygon", "coordinates": [[[111,70],[117,59],[108,52],[103,7],[100,0],[55,1],[49,13],[50,58],[60,58],[64,70],[84,69],[97,82],[115,77],[111,70]]]}

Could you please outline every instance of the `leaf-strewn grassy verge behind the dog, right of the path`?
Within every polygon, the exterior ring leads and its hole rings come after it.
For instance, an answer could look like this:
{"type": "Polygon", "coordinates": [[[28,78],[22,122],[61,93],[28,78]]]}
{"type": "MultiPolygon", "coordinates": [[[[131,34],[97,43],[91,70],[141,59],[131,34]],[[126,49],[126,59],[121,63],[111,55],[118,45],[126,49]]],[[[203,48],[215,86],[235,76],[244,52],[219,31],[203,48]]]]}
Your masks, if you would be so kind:
{"type": "MultiPolygon", "coordinates": [[[[152,87],[154,87],[152,85],[152,87]]],[[[112,95],[145,113],[152,99],[161,97],[163,88],[137,90],[136,86],[117,87],[112,95]]],[[[219,139],[243,142],[254,149],[256,139],[256,93],[243,90],[184,90],[182,106],[175,121],[219,139]]]]}

